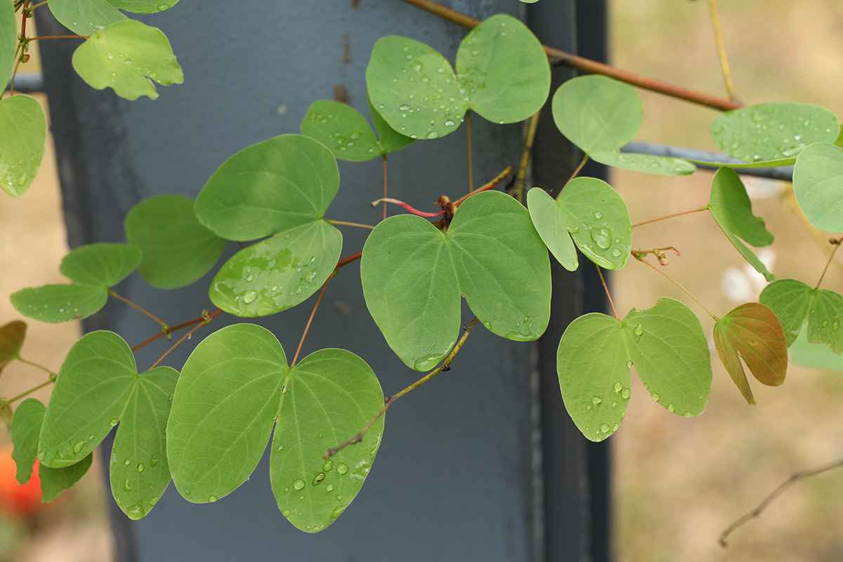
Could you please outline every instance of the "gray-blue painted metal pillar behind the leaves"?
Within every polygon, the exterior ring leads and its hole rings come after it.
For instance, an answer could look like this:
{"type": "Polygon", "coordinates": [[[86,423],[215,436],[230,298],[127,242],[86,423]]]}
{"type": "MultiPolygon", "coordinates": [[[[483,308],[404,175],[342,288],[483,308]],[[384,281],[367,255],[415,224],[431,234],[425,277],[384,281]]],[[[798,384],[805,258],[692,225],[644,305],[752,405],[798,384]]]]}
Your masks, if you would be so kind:
{"type": "MultiPolygon", "coordinates": [[[[524,4],[515,0],[446,4],[478,19],[497,12],[524,15],[524,4]]],[[[555,40],[545,40],[573,45],[569,0],[541,4],[562,7],[553,22],[555,40]]],[[[137,201],[161,193],[196,196],[235,152],[298,132],[316,99],[341,97],[365,115],[364,71],[380,36],[425,41],[453,61],[465,33],[395,0],[184,0],[144,21],[164,30],[185,70],[185,84],[158,88],[161,97],[155,101],[127,102],[110,91],[94,91],[69,68],[72,41],[41,45],[72,246],[123,241],[123,217],[137,201]]],[[[46,18],[39,25],[45,35],[60,29],[46,18]]],[[[517,165],[521,131],[518,125],[475,120],[478,182],[517,165]]],[[[462,128],[390,155],[390,195],[415,206],[438,195],[461,195],[468,178],[465,145],[462,128]]],[[[570,158],[563,158],[561,169],[570,169],[570,158]]],[[[545,165],[541,162],[537,159],[545,165]]],[[[368,202],[379,197],[380,162],[340,163],[340,174],[340,192],[326,216],[375,222],[380,211],[368,202]]],[[[343,237],[345,256],[362,248],[365,233],[344,229],[343,237]]],[[[319,347],[354,351],[379,375],[384,393],[395,393],[418,373],[385,345],[365,308],[358,272],[357,265],[348,266],[331,282],[303,353],[319,347]]],[[[576,276],[561,279],[563,285],[582,286],[576,276]]],[[[177,324],[212,308],[209,280],[164,292],[134,275],[117,290],[177,324]]],[[[566,421],[558,385],[548,384],[555,367],[548,371],[546,361],[559,330],[580,310],[581,295],[556,291],[555,331],[546,344],[517,344],[475,330],[450,372],[389,410],[384,441],[362,492],[324,532],[301,533],[286,522],[271,495],[268,463],[261,461],[249,481],[214,504],[191,504],[170,486],[140,522],[130,522],[112,505],[120,559],[527,562],[545,559],[545,543],[556,545],[547,549],[548,560],[588,559],[593,542],[588,462],[582,437],[566,421]]],[[[257,322],[292,350],[312,302],[257,322]]],[[[464,318],[471,318],[467,308],[464,318]]],[[[235,321],[221,315],[199,335],[235,321]]],[[[157,326],[110,304],[85,323],[88,330],[103,328],[134,345],[157,326]]],[[[139,351],[138,367],[148,367],[165,349],[162,344],[139,351]]],[[[180,347],[168,363],[180,368],[190,349],[180,347]]]]}

